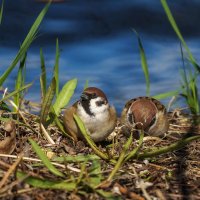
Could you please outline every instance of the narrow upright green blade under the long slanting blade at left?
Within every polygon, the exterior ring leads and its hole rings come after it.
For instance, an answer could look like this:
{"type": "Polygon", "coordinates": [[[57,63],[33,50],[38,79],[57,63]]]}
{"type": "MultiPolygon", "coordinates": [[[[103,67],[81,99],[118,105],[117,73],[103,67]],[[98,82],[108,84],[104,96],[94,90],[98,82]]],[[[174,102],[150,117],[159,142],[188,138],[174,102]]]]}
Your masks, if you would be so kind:
{"type": "MultiPolygon", "coordinates": [[[[15,90],[19,90],[21,87],[24,86],[26,58],[27,58],[27,54],[25,54],[23,56],[22,60],[20,61],[19,70],[17,73],[17,79],[15,82],[15,90]]],[[[19,105],[20,105],[20,99],[22,99],[21,92],[17,93],[14,97],[14,102],[17,105],[17,107],[19,107],[19,105]]],[[[15,111],[16,111],[16,108],[15,108],[15,111]]]]}

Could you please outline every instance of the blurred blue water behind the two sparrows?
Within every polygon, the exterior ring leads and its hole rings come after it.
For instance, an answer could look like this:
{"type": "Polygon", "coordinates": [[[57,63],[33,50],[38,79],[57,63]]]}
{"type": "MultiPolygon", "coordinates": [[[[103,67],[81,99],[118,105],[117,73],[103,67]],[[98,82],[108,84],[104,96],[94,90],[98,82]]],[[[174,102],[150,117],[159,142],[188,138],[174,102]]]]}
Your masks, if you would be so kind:
{"type": "MultiPolygon", "coordinates": [[[[43,3],[5,1],[0,25],[0,74],[11,64],[20,43],[28,33],[43,3]]],[[[177,24],[197,61],[200,61],[200,1],[170,1],[177,24]]],[[[53,3],[41,24],[38,37],[28,51],[26,82],[34,86],[26,99],[40,101],[40,57],[42,47],[48,80],[55,58],[55,41],[59,39],[61,86],[78,78],[75,101],[86,82],[100,87],[121,112],[125,102],[146,94],[137,39],[140,34],[146,52],[151,79],[151,95],[180,87],[182,66],[180,44],[159,1],[149,0],[76,0],[53,3]]],[[[4,87],[12,90],[17,68],[4,87]]],[[[169,99],[163,100],[167,104],[169,99]]],[[[181,106],[184,102],[181,101],[181,106]]]]}

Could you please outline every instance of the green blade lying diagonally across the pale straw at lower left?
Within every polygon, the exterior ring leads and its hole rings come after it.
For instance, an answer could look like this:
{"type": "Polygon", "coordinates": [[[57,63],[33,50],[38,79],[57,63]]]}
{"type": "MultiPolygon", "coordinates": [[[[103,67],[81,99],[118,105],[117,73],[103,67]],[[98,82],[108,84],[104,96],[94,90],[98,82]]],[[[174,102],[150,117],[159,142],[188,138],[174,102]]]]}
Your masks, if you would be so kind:
{"type": "Polygon", "coordinates": [[[31,143],[33,150],[36,152],[36,154],[42,160],[43,164],[48,168],[48,170],[56,176],[63,177],[64,174],[58,171],[58,169],[53,166],[53,164],[49,161],[48,157],[45,155],[42,149],[37,145],[37,143],[32,139],[29,139],[29,142],[31,143]]]}

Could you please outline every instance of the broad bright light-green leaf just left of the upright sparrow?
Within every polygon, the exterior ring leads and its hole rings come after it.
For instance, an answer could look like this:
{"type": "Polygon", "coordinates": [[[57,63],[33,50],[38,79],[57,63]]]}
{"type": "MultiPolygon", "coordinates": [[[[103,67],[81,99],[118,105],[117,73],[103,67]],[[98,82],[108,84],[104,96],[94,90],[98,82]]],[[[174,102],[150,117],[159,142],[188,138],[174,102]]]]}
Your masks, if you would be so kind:
{"type": "Polygon", "coordinates": [[[58,97],[53,105],[55,114],[58,116],[61,112],[61,109],[66,106],[74,94],[74,90],[77,85],[77,79],[72,79],[68,81],[58,94],[58,97]]]}

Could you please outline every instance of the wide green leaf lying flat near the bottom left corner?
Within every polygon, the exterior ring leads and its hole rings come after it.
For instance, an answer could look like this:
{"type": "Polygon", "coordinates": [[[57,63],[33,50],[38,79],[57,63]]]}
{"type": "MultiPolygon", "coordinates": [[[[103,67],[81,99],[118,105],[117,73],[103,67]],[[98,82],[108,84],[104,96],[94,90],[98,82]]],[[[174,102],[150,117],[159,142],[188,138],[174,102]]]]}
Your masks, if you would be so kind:
{"type": "Polygon", "coordinates": [[[36,188],[58,189],[66,191],[73,191],[74,189],[76,189],[76,184],[73,182],[50,181],[47,179],[40,179],[33,176],[29,176],[28,174],[20,171],[17,171],[17,178],[24,179],[24,182],[36,188]]]}

